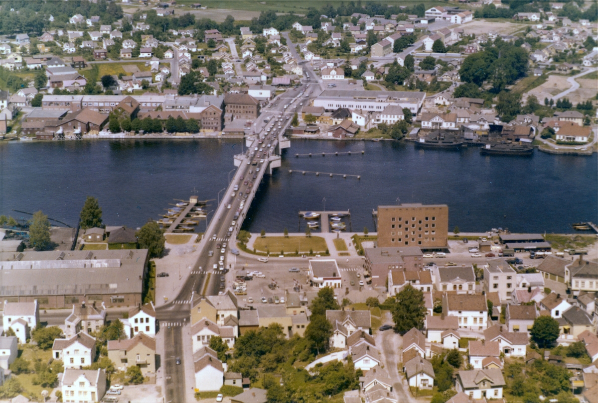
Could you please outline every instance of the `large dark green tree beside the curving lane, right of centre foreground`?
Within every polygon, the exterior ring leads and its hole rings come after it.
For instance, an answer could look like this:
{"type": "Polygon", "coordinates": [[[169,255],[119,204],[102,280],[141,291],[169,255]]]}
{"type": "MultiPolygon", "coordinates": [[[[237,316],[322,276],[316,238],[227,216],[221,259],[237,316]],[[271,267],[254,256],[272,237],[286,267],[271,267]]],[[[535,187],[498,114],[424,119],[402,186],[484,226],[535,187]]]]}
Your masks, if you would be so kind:
{"type": "Polygon", "coordinates": [[[396,303],[392,308],[395,331],[402,333],[412,328],[422,328],[426,312],[428,311],[423,301],[423,292],[407,284],[396,294],[396,303]]]}

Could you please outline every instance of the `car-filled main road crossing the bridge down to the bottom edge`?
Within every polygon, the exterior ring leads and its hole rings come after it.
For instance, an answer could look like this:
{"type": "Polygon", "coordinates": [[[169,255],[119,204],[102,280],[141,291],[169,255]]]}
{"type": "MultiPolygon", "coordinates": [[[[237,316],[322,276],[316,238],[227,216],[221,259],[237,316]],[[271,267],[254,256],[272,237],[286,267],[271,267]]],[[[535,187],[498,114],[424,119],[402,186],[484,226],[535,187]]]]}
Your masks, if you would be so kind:
{"type": "MultiPolygon", "coordinates": [[[[315,76],[313,70],[310,75],[315,76]]],[[[163,363],[166,402],[186,401],[187,390],[194,387],[194,385],[186,386],[185,384],[183,370],[185,360],[193,359],[193,357],[185,355],[182,350],[184,344],[182,341],[182,326],[190,322],[190,309],[194,296],[218,294],[221,283],[220,275],[223,273],[221,268],[226,270],[234,269],[233,260],[231,259],[233,255],[230,254],[230,248],[234,247],[234,240],[266,172],[270,156],[274,155],[274,150],[277,149],[285,128],[290,124],[292,115],[300,111],[300,103],[302,101],[307,102],[306,98],[309,97],[309,91],[306,91],[303,97],[297,99],[295,97],[307,89],[306,84],[302,84],[298,88],[289,88],[288,91],[271,100],[264,107],[261,115],[255,119],[253,125],[255,133],[248,136],[251,146],[244,153],[236,156],[237,161],[240,159],[239,168],[224,191],[222,199],[219,200],[216,212],[212,217],[208,230],[206,230],[205,238],[198,246],[199,256],[191,269],[191,274],[182,280],[176,298],[157,308],[158,321],[165,323],[161,331],[164,332],[163,363]],[[288,105],[286,109],[285,105],[288,105]],[[277,122],[276,119],[278,119],[277,122]],[[279,123],[280,128],[278,128],[279,123]],[[269,143],[271,147],[267,147],[269,143]],[[238,185],[239,189],[234,190],[234,185],[238,185]],[[236,193],[234,197],[232,196],[233,192],[236,193]],[[240,209],[240,204],[244,198],[240,196],[239,192],[248,195],[242,209],[240,209]],[[234,216],[239,209],[239,217],[234,220],[234,216]],[[233,222],[235,223],[233,224],[233,222]],[[229,229],[232,230],[229,231],[229,229]],[[221,244],[222,247],[223,242],[227,242],[227,247],[225,253],[222,254],[222,256],[225,256],[224,264],[220,266],[221,253],[215,247],[216,244],[221,244]],[[209,251],[214,251],[213,256],[209,256],[209,251]],[[176,364],[178,359],[180,359],[178,362],[181,364],[176,364]]],[[[319,93],[319,91],[316,91],[316,93],[319,93]]],[[[230,284],[228,285],[230,286],[230,284]]]]}

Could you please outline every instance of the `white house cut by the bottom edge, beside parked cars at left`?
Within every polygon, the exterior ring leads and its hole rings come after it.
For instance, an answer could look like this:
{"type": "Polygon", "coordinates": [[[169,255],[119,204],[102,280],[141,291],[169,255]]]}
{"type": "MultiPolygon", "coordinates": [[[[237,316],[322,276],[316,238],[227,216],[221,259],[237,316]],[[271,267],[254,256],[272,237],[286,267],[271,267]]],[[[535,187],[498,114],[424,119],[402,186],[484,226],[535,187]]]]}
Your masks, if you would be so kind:
{"type": "Polygon", "coordinates": [[[99,402],[106,393],[106,372],[65,368],[60,384],[63,402],[99,402]]]}

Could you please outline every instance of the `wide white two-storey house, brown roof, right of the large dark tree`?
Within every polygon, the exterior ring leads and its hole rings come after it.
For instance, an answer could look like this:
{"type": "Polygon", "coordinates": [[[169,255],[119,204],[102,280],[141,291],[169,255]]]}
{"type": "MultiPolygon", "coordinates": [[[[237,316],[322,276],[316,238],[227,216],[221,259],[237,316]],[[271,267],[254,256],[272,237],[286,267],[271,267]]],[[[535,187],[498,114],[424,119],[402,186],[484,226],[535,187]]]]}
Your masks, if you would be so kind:
{"type": "Polygon", "coordinates": [[[486,296],[472,294],[443,295],[444,315],[457,316],[460,329],[484,330],[487,327],[486,296]]]}

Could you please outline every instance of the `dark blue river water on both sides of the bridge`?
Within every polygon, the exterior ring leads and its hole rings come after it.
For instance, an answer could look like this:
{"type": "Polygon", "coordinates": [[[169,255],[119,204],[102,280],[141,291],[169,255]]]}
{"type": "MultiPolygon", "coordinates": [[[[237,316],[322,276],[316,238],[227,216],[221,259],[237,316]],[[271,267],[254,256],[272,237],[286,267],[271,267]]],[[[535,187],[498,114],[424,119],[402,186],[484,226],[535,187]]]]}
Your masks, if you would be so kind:
{"type": "MultiPolygon", "coordinates": [[[[75,225],[84,199],[93,195],[106,224],[138,227],[194,189],[202,199],[216,199],[239,147],[238,140],[0,143],[0,214],[17,218],[25,215],[11,209],[43,210],[75,225]]],[[[325,207],[350,209],[353,230],[373,230],[372,210],[398,201],[448,204],[449,227],[462,232],[571,232],[573,222],[598,221],[597,194],[596,154],[536,151],[523,158],[480,156],[477,149],[416,150],[408,143],[293,140],[282,167],[261,184],[244,226],[294,231],[298,211],[325,207]],[[352,156],[294,156],[349,150],[352,156]]]]}

